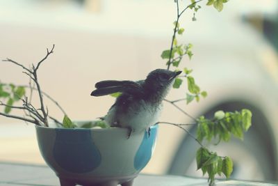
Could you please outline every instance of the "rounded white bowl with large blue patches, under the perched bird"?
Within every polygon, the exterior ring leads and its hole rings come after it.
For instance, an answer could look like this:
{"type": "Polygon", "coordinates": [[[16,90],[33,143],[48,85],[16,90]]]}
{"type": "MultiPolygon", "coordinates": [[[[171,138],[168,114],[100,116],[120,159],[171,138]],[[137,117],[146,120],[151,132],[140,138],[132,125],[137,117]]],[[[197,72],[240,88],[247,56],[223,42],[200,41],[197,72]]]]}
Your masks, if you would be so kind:
{"type": "Polygon", "coordinates": [[[36,126],[40,153],[61,185],[132,185],[155,146],[157,125],[147,132],[124,128],[65,129],[36,126]]]}

